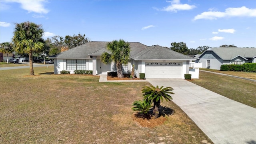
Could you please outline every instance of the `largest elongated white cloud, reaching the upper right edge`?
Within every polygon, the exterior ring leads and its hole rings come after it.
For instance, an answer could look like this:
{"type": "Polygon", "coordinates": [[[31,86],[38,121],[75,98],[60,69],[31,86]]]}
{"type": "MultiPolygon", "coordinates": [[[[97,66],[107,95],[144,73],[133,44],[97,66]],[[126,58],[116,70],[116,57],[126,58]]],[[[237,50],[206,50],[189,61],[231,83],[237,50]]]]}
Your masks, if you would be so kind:
{"type": "Polygon", "coordinates": [[[224,17],[256,17],[256,9],[246,8],[242,6],[240,8],[226,8],[225,12],[217,12],[217,11],[208,11],[198,14],[194,17],[194,20],[199,19],[208,19],[208,20],[216,20],[217,18],[224,17]]]}

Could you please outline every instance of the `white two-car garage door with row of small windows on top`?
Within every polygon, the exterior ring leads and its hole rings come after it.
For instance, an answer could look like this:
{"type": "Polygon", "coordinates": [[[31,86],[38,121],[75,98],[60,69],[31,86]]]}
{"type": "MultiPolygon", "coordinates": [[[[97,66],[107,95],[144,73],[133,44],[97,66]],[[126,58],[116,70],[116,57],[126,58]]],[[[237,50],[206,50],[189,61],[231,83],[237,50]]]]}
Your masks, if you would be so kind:
{"type": "Polygon", "coordinates": [[[182,62],[145,62],[146,78],[182,78],[182,62]]]}

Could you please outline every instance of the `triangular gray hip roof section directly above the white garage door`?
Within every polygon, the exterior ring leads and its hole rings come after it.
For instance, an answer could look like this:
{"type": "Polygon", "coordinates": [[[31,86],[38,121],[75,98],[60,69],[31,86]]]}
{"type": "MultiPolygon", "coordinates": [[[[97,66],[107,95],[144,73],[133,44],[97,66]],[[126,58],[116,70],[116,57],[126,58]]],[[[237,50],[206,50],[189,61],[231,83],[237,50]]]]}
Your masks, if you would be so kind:
{"type": "Polygon", "coordinates": [[[167,47],[159,45],[150,46],[145,50],[131,57],[135,60],[192,60],[190,56],[186,56],[179,52],[175,52],[167,47]]]}

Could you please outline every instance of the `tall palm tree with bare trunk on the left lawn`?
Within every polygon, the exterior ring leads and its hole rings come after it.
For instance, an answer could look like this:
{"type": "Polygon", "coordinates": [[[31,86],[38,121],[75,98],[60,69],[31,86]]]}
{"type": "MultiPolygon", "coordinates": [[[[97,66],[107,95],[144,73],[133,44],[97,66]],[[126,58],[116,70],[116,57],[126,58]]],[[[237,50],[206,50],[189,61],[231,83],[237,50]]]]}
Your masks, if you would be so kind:
{"type": "Polygon", "coordinates": [[[29,55],[30,75],[34,75],[33,52],[44,50],[44,30],[40,25],[33,22],[16,23],[14,36],[12,38],[14,50],[20,54],[29,55]]]}

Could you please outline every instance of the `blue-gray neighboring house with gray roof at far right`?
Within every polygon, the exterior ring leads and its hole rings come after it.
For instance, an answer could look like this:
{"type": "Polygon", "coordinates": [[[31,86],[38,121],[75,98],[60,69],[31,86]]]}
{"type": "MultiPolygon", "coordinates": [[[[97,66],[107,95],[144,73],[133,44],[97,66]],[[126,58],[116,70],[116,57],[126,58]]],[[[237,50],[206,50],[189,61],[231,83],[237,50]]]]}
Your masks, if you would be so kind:
{"type": "Polygon", "coordinates": [[[202,68],[220,70],[222,64],[256,63],[256,48],[211,48],[194,59],[202,68]]]}

